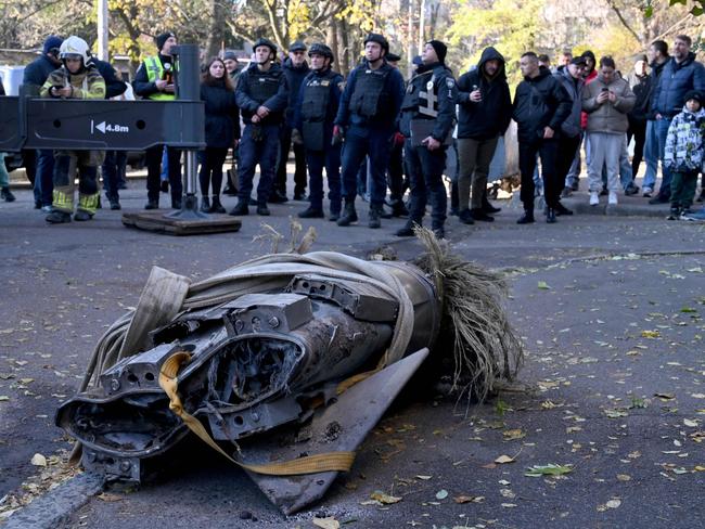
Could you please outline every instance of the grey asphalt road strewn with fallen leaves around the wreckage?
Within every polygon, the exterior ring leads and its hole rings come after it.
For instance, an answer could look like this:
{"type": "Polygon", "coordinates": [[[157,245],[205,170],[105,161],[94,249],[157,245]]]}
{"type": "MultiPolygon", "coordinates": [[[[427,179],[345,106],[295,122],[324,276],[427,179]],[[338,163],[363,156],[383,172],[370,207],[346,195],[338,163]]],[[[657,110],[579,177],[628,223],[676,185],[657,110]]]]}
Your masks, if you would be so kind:
{"type": "MultiPolygon", "coordinates": [[[[126,209],[144,202],[142,183],[132,185],[140,189],[124,193],[126,209]]],[[[238,233],[172,237],[125,229],[115,211],[48,227],[29,209],[29,191],[17,197],[0,204],[5,504],[42,481],[47,468],[30,464],[35,453],[61,474],[61,457],[51,455],[70,444],[53,413],[75,391],[105,327],[136,305],[152,266],[207,278],[268,253],[269,243],[253,242],[260,222],[287,235],[289,217],[306,207],[273,206],[272,217],[247,217],[238,233]]],[[[498,398],[471,408],[406,399],[325,500],[291,518],[196,446],[157,481],[91,498],[62,527],[307,528],[315,516],[360,528],[703,527],[703,224],[580,215],[520,227],[516,217],[505,207],[492,224],[451,218],[447,229],[454,251],[508,273],[508,310],[527,357],[498,398]],[[513,461],[495,463],[501,455],[513,461]],[[525,475],[548,464],[571,472],[525,475]],[[376,490],[401,500],[362,505],[376,490]]],[[[413,258],[418,243],[393,234],[401,222],[376,231],[305,225],[318,231],[313,249],[364,257],[389,246],[413,258]]]]}

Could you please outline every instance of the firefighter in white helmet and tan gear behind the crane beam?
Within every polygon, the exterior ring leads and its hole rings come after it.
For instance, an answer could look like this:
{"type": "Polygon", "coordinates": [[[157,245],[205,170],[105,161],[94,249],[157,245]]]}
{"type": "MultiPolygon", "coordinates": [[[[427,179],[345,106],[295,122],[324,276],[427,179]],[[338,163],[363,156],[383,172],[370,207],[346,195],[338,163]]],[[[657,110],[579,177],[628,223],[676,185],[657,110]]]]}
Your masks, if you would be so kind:
{"type": "MultiPolygon", "coordinates": [[[[59,57],[63,65],[47,78],[40,91],[42,98],[105,98],[105,81],[90,61],[88,43],[84,39],[68,37],[59,49],[59,57]]],[[[77,171],[78,206],[74,220],[85,221],[93,218],[100,199],[98,167],[103,163],[104,155],[102,151],[55,151],[53,211],[47,216],[47,222],[70,222],[77,171]]]]}

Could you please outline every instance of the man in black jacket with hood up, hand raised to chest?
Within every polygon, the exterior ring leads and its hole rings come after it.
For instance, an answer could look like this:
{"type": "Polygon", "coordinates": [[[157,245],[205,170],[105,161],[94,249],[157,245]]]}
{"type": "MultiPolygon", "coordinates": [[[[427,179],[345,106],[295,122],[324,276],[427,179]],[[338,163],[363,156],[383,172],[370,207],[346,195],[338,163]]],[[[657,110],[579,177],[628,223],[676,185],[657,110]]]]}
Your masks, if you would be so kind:
{"type": "Polygon", "coordinates": [[[458,218],[492,221],[487,215],[487,173],[500,136],[512,119],[512,99],[504,57],[491,46],[483,51],[477,67],[458,79],[458,218]],[[467,208],[472,186],[472,209],[467,208]]]}

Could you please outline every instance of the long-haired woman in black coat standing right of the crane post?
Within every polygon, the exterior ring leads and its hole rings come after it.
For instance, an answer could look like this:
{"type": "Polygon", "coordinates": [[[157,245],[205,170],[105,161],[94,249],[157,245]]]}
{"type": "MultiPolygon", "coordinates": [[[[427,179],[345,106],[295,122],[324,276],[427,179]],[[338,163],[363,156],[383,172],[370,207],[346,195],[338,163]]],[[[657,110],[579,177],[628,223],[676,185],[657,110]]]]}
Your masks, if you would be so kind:
{"type": "Polygon", "coordinates": [[[235,90],[227,74],[226,64],[214,57],[203,74],[201,100],[206,109],[206,150],[200,154],[201,210],[209,214],[225,214],[220,204],[222,186],[222,165],[228,149],[240,139],[240,119],[235,103],[235,90]],[[213,201],[208,199],[208,189],[213,188],[213,201]]]}

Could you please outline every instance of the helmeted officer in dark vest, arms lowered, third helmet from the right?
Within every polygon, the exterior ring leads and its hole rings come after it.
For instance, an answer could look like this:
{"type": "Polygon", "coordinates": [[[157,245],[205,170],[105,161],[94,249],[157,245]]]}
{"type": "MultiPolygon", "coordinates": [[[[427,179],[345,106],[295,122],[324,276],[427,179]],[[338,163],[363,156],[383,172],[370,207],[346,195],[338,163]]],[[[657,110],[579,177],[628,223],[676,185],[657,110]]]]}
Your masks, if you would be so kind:
{"type": "Polygon", "coordinates": [[[311,72],[306,76],[295,104],[294,143],[306,150],[310,206],[300,211],[303,219],[323,218],[323,166],[328,177],[330,220],[341,216],[341,143],[333,142],[333,120],[343,93],[343,76],[333,72],[333,52],[322,43],[308,52],[311,72]]]}

